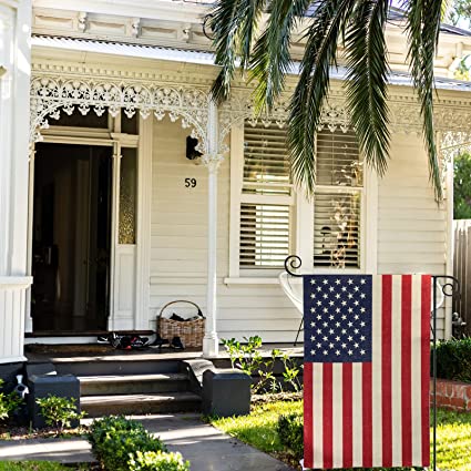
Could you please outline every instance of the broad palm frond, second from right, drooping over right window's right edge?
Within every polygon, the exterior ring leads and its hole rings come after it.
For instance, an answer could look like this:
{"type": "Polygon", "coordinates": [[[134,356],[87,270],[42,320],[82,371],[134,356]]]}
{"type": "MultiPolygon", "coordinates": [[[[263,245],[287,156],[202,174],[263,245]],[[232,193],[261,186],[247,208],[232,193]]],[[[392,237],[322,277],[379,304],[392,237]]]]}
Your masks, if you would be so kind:
{"type": "Polygon", "coordinates": [[[366,161],[382,175],[389,153],[389,110],[385,25],[388,0],[357,6],[346,37],[347,103],[366,161]]]}

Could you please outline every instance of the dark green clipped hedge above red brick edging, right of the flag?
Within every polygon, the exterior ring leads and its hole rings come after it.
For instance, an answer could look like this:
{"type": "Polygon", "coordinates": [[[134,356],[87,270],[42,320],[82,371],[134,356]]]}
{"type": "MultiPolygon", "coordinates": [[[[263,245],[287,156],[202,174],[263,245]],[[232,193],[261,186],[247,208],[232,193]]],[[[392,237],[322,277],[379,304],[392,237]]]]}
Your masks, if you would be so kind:
{"type": "Polygon", "coordinates": [[[437,377],[471,382],[471,338],[437,344],[437,377]]]}

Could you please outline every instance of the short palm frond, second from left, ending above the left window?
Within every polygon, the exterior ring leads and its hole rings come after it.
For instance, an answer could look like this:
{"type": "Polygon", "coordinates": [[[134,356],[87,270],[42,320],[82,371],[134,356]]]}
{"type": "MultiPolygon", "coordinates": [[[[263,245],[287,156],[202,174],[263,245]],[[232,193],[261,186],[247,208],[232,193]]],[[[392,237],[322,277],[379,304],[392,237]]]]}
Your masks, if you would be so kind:
{"type": "Polygon", "coordinates": [[[257,83],[254,93],[257,111],[270,111],[285,86],[291,63],[291,32],[310,3],[311,0],[278,0],[269,4],[268,23],[250,60],[250,80],[257,83]]]}

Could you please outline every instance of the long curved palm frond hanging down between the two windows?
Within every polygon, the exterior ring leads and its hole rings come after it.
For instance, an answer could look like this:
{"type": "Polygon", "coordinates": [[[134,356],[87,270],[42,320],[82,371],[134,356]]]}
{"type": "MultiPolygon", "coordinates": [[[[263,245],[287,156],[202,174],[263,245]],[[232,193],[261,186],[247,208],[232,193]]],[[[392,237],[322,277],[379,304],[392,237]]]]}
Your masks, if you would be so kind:
{"type": "Polygon", "coordinates": [[[314,194],[315,134],[330,84],[330,66],[355,0],[321,0],[307,32],[306,51],[288,119],[291,175],[295,184],[314,194]]]}

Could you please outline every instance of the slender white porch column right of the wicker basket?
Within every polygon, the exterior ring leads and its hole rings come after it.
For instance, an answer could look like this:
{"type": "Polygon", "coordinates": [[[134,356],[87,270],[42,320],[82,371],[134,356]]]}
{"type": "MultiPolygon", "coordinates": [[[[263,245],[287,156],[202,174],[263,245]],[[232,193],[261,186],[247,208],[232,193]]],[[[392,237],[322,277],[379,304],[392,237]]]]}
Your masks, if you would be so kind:
{"type": "Polygon", "coordinates": [[[217,171],[222,161],[218,151],[217,106],[211,101],[207,124],[207,151],[203,162],[208,170],[208,219],[207,219],[207,291],[206,329],[203,338],[203,356],[216,357],[219,352],[219,339],[216,328],[217,299],[217,171]]]}

